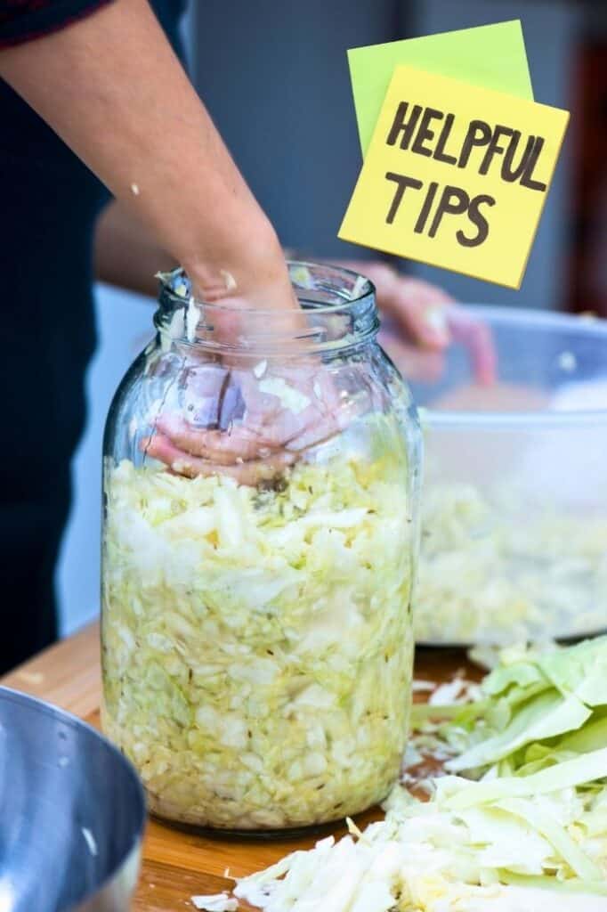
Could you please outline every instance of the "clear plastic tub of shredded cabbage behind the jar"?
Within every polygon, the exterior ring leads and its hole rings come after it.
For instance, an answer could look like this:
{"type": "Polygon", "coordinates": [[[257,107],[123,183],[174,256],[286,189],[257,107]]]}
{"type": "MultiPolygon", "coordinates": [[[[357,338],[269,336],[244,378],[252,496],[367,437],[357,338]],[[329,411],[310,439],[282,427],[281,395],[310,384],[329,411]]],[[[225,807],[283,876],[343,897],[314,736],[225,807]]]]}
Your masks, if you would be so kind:
{"type": "Polygon", "coordinates": [[[417,641],[508,643],[607,627],[607,323],[475,307],[498,379],[456,344],[412,380],[425,428],[417,641]],[[436,368],[436,364],[434,366],[436,368]]]}

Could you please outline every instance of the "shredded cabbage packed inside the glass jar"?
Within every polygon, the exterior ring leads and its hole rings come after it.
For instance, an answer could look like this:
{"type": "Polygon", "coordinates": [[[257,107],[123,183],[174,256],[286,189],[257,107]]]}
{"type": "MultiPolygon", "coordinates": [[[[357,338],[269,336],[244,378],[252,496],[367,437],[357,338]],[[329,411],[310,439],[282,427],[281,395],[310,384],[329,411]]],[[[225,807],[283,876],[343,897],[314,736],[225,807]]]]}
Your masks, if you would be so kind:
{"type": "Polygon", "coordinates": [[[413,651],[401,456],[272,490],[107,466],[103,726],[153,812],[283,828],[386,797],[413,651]]]}

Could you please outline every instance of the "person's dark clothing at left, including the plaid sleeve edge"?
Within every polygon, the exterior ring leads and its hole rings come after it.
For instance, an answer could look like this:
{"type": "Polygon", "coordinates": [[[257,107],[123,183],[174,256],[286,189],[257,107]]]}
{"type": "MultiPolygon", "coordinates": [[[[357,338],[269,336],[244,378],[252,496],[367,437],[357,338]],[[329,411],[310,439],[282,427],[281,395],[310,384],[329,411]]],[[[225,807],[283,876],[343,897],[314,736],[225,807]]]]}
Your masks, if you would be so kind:
{"type": "MultiPolygon", "coordinates": [[[[152,4],[178,52],[184,3],[152,4]]],[[[19,5],[27,4],[0,0],[0,39],[8,22],[2,14],[19,5]]],[[[73,16],[77,6],[94,4],[58,0],[46,6],[64,13],[70,7],[73,16]]],[[[35,13],[31,23],[38,21],[35,13]]],[[[23,34],[36,31],[27,31],[25,19],[23,34]]],[[[93,233],[109,194],[2,80],[0,123],[2,673],[57,636],[55,565],[69,513],[70,461],[86,419],[85,372],[96,342],[93,233]]]]}

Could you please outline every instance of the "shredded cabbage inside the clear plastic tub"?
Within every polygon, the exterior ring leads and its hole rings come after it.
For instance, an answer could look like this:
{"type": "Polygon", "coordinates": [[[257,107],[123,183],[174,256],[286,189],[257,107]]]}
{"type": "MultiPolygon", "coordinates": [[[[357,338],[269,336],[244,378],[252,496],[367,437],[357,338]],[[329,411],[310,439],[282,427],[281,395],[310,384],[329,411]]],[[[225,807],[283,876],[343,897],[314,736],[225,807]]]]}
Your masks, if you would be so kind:
{"type": "Polygon", "coordinates": [[[506,645],[607,627],[607,518],[504,500],[427,482],[418,642],[506,645]]]}

